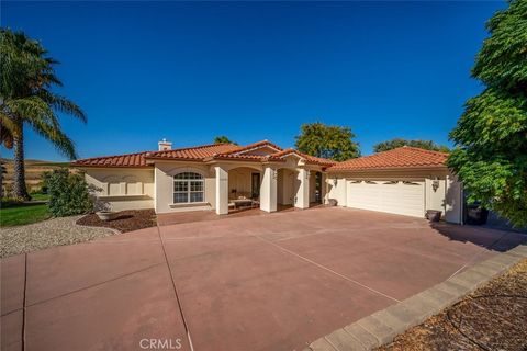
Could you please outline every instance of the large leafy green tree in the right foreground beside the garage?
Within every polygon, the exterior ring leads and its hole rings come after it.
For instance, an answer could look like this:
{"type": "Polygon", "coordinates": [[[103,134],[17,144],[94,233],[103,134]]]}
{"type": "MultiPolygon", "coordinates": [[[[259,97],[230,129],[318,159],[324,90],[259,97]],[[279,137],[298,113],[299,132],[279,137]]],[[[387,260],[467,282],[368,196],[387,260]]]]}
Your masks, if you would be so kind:
{"type": "Polygon", "coordinates": [[[490,36],[472,77],[485,89],[466,103],[450,138],[448,166],[469,202],[527,225],[527,1],[513,0],[487,22],[490,36]]]}

